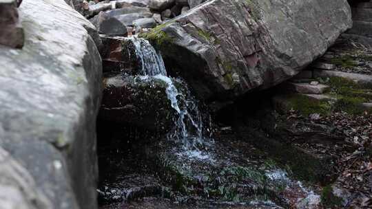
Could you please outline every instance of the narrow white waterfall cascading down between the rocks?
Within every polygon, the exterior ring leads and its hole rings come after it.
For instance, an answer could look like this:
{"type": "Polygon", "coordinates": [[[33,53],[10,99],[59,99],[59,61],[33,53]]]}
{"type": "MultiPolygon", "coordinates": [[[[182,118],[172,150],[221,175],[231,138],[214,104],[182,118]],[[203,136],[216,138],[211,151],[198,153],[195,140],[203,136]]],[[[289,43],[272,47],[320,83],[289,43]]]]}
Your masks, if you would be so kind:
{"type": "Polygon", "coordinates": [[[187,89],[187,85],[178,80],[178,83],[183,84],[185,92],[178,91],[174,85],[174,80],[167,76],[160,52],[156,52],[149,41],[137,37],[128,39],[134,43],[136,48],[136,56],[142,65],[140,73],[144,76],[143,78],[152,76],[163,80],[167,84],[165,93],[172,108],[178,114],[174,130],[168,134],[168,138],[182,142],[184,150],[189,155],[202,159],[206,158],[207,155],[202,155],[198,149],[199,146],[203,145],[203,119],[198,104],[187,89]]]}

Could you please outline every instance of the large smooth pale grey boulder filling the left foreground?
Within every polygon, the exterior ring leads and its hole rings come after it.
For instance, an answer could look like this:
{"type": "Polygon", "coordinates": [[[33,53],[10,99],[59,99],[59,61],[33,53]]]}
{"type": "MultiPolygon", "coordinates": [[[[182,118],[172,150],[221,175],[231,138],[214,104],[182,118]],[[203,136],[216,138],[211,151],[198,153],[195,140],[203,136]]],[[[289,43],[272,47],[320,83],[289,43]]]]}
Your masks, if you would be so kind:
{"type": "MultiPolygon", "coordinates": [[[[102,66],[94,26],[63,0],[24,0],[19,13],[23,49],[0,45],[0,146],[29,175],[7,171],[25,190],[1,181],[0,196],[12,192],[16,208],[97,208],[102,66]]],[[[1,169],[2,161],[0,154],[1,169]]]]}

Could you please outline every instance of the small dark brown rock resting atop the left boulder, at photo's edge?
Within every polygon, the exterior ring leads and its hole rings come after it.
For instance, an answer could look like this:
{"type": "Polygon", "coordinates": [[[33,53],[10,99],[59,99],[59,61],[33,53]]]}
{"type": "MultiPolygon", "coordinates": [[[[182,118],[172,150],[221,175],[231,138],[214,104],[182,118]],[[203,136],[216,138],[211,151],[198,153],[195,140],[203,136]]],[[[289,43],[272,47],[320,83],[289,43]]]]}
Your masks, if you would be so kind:
{"type": "Polygon", "coordinates": [[[23,28],[19,23],[16,0],[0,0],[0,45],[22,48],[23,28]]]}

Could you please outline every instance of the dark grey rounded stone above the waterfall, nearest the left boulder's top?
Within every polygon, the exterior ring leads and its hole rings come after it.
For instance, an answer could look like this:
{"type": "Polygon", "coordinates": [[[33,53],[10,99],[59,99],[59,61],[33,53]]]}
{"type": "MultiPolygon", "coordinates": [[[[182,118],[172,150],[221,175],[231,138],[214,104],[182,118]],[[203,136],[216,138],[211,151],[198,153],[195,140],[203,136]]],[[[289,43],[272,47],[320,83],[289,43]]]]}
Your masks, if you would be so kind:
{"type": "Polygon", "coordinates": [[[125,35],[127,34],[126,25],[114,17],[110,17],[105,12],[100,12],[90,20],[101,34],[125,35]]]}

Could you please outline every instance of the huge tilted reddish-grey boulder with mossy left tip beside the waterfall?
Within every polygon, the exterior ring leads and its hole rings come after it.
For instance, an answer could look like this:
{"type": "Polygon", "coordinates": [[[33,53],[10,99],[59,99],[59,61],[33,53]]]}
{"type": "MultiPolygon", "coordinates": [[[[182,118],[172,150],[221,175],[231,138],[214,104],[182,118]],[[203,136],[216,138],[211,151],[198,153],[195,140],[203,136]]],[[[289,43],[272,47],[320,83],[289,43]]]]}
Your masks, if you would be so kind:
{"type": "Polygon", "coordinates": [[[291,78],[351,25],[346,0],[212,0],[143,36],[212,101],[291,78]]]}

